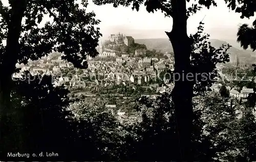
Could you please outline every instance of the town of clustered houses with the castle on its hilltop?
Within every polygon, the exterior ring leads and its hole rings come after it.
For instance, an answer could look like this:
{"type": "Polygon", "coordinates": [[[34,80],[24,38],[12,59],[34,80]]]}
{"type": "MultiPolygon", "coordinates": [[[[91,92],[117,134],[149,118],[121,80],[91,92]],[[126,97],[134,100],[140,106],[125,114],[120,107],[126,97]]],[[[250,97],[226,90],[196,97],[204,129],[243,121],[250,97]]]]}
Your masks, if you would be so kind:
{"type": "MultiPolygon", "coordinates": [[[[24,71],[30,71],[32,75],[55,76],[53,84],[65,85],[70,90],[71,99],[79,98],[90,102],[92,97],[103,98],[108,103],[106,107],[113,109],[118,119],[123,115],[133,115],[137,98],[145,96],[156,99],[174,87],[168,75],[161,75],[174,71],[171,52],[147,50],[144,44],[135,43],[132,36],[120,33],[111,34],[109,40],[100,41],[97,51],[98,56],[88,58],[88,68],[85,70],[75,68],[72,63],[61,59],[64,54],[54,52],[23,66],[21,72],[13,77],[22,76],[24,71]]],[[[241,75],[231,78],[236,70],[243,70],[247,74],[251,71],[250,65],[241,65],[236,56],[234,65],[220,65],[218,70],[220,77],[211,88],[220,91],[222,86],[227,85],[231,97],[228,104],[232,103],[232,107],[236,108],[239,118],[248,111],[256,115],[256,107],[239,104],[241,101],[246,102],[249,94],[253,94],[253,88],[239,88],[238,84],[233,83],[240,83],[239,80],[245,82],[241,75]],[[223,82],[225,80],[227,84],[223,82]]],[[[246,77],[251,80],[254,75],[246,77]]]]}

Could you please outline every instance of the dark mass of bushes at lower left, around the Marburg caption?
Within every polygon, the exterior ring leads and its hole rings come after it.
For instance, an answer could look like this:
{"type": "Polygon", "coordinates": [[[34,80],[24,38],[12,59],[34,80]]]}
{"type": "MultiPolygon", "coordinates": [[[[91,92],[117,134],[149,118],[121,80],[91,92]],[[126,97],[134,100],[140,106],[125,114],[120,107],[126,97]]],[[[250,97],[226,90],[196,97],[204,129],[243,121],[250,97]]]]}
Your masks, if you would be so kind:
{"type": "MultiPolygon", "coordinates": [[[[34,81],[30,82],[30,73],[26,72],[25,75],[23,81],[16,78],[11,91],[11,102],[18,117],[24,119],[18,127],[22,130],[23,139],[11,141],[6,137],[9,145],[4,149],[1,160],[96,161],[117,157],[122,142],[118,134],[118,121],[105,108],[102,99],[94,103],[74,102],[68,97],[68,89],[53,86],[52,76],[34,76],[34,81]],[[18,152],[29,153],[29,158],[7,157],[7,152],[21,145],[26,147],[18,148],[18,152]],[[32,156],[41,152],[44,157],[32,156]],[[54,152],[58,156],[47,157],[46,152],[54,152]]],[[[11,135],[12,130],[8,133],[11,135]]]]}

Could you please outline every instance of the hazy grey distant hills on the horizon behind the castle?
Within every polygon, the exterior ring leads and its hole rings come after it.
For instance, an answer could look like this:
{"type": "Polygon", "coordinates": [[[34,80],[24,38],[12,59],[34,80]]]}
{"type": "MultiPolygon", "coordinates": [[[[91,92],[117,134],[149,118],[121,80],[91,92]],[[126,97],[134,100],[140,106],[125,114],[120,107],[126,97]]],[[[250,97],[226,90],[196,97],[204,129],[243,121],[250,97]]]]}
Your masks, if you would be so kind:
{"type": "MultiPolygon", "coordinates": [[[[226,41],[222,41],[219,39],[210,39],[209,40],[213,47],[219,48],[222,44],[228,44],[226,41]]],[[[173,52],[172,44],[168,39],[135,39],[136,43],[145,44],[147,49],[156,49],[157,51],[163,52],[173,52]]],[[[234,42],[234,41],[233,41],[234,42]]],[[[232,43],[229,43],[232,45],[232,43]]],[[[237,47],[237,44],[235,44],[237,47]]],[[[236,54],[239,56],[239,60],[241,63],[255,63],[256,62],[256,52],[252,52],[249,50],[237,49],[235,47],[231,47],[229,49],[230,61],[234,62],[236,58],[236,54]]]]}

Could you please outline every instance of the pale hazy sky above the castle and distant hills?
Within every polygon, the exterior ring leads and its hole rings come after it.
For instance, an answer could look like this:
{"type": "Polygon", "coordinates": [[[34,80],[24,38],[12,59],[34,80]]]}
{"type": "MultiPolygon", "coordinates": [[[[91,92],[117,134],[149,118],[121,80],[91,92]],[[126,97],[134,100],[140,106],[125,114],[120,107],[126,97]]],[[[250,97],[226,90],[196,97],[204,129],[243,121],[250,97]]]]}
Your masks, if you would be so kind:
{"type": "MultiPolygon", "coordinates": [[[[211,38],[236,40],[239,25],[243,23],[251,25],[255,16],[250,19],[241,19],[238,13],[229,11],[224,0],[216,0],[216,2],[218,7],[202,9],[188,19],[188,34],[196,32],[199,22],[205,16],[203,21],[205,32],[210,34],[211,38]]],[[[137,12],[131,7],[96,6],[90,2],[88,9],[93,10],[96,17],[101,20],[99,27],[103,37],[121,32],[132,35],[135,39],[167,38],[164,31],[172,29],[172,18],[165,18],[160,11],[148,13],[144,5],[137,12]]]]}

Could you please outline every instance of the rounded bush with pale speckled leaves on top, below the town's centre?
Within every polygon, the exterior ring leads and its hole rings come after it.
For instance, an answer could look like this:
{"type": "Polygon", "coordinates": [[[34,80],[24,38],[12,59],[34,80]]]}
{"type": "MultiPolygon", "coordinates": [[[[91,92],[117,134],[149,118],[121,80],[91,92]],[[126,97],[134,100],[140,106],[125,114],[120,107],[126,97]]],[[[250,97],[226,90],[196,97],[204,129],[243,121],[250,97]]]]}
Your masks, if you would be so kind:
{"type": "MultiPolygon", "coordinates": [[[[78,121],[78,134],[81,139],[80,147],[86,146],[84,140],[88,140],[94,154],[94,160],[111,159],[117,157],[121,145],[121,136],[118,121],[111,109],[106,109],[105,103],[100,100],[88,102],[75,102],[69,109],[78,121]],[[98,156],[98,157],[97,157],[98,156]]],[[[89,146],[86,146],[89,148],[89,146]]],[[[81,159],[84,159],[83,150],[80,150],[81,159]]],[[[91,156],[91,155],[89,155],[91,156]]]]}

